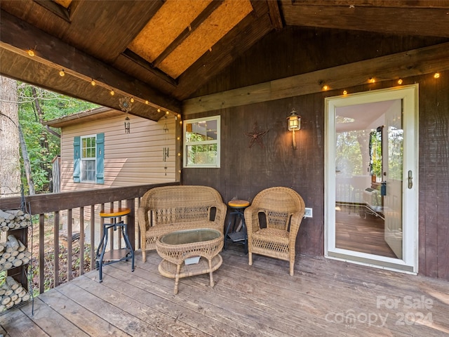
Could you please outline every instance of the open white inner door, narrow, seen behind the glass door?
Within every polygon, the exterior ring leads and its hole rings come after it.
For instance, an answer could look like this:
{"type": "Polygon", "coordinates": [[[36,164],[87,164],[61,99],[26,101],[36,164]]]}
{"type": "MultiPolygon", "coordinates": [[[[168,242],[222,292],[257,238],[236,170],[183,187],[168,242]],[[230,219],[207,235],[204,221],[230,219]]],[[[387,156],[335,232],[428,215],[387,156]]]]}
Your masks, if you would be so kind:
{"type": "Polygon", "coordinates": [[[403,253],[403,113],[402,100],[396,100],[385,113],[383,133],[383,180],[384,180],[384,216],[385,242],[402,259],[403,253]]]}

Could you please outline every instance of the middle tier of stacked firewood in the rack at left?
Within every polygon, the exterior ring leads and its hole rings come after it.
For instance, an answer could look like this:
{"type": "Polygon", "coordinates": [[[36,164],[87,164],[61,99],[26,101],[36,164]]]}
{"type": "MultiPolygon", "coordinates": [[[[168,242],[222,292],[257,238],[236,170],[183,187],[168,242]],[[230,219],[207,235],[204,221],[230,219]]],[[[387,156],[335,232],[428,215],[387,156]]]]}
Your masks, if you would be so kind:
{"type": "Polygon", "coordinates": [[[0,270],[25,265],[29,263],[31,255],[25,244],[22,244],[14,235],[8,235],[7,242],[0,242],[0,270]]]}

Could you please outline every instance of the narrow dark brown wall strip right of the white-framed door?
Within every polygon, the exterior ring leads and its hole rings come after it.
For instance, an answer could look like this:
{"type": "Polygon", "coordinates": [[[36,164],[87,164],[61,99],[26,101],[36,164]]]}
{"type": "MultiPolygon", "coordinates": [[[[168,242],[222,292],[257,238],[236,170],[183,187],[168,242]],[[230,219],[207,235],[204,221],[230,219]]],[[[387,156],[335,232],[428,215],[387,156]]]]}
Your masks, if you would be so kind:
{"type": "Polygon", "coordinates": [[[420,77],[420,260],[423,275],[449,280],[449,72],[420,77]]]}

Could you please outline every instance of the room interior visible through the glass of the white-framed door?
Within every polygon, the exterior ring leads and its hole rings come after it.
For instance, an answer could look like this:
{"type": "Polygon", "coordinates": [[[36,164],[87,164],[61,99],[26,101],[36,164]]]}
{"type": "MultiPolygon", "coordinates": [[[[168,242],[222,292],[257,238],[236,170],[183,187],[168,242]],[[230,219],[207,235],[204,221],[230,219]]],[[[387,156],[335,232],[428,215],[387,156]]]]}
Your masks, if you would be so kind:
{"type": "MultiPolygon", "coordinates": [[[[386,205],[384,207],[387,197],[386,171],[389,167],[388,141],[385,139],[386,124],[387,119],[400,120],[401,114],[402,104],[399,99],[336,109],[335,246],[337,248],[402,258],[401,233],[398,235],[398,243],[394,245],[394,250],[385,237],[386,205]],[[399,248],[396,249],[396,246],[399,248]]],[[[402,138],[397,141],[402,145],[402,138]]],[[[401,150],[397,157],[396,164],[401,168],[403,157],[401,150]]],[[[401,192],[398,194],[401,198],[401,192]]],[[[401,209],[398,212],[398,217],[401,218],[401,209]]]]}

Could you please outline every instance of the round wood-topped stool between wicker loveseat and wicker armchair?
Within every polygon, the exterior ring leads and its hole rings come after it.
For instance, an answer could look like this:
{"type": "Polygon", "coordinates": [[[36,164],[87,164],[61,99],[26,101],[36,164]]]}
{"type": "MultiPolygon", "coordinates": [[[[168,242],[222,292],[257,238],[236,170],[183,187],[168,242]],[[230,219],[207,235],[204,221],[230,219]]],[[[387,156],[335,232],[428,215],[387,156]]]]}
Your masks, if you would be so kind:
{"type": "Polygon", "coordinates": [[[245,209],[250,206],[250,202],[246,200],[231,200],[228,203],[229,222],[225,230],[225,250],[227,242],[236,242],[245,246],[245,253],[248,253],[248,233],[246,232],[245,209]]]}

